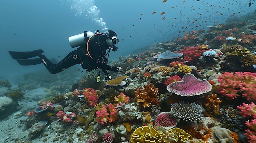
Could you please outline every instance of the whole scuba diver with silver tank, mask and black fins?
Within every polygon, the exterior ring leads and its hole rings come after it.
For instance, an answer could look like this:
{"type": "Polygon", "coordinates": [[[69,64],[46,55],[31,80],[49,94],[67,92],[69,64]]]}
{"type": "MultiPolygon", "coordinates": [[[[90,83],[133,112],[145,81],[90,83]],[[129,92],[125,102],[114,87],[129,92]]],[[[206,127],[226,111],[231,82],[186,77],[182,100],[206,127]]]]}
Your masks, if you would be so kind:
{"type": "MultiPolygon", "coordinates": [[[[36,65],[43,63],[50,73],[59,73],[71,66],[81,64],[82,68],[87,71],[92,71],[101,68],[105,73],[105,80],[111,79],[107,70],[114,72],[121,72],[121,67],[113,67],[108,65],[108,57],[110,50],[117,51],[119,39],[115,31],[108,30],[105,34],[97,30],[95,33],[84,31],[84,33],[69,37],[69,43],[72,48],[78,47],[76,50],[70,52],[58,64],[52,63],[44,55],[43,50],[16,52],[9,51],[9,54],[20,65],[36,65]],[[38,58],[32,58],[38,57],[38,58]]],[[[97,82],[100,81],[100,71],[97,77],[97,82]]]]}

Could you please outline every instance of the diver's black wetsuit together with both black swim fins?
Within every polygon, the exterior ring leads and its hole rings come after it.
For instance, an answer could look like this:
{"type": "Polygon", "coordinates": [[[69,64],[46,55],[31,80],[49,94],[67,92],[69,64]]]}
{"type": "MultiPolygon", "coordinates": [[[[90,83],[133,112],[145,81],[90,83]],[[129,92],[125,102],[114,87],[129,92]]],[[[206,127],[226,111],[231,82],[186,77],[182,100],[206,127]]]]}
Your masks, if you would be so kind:
{"type": "Polygon", "coordinates": [[[105,75],[108,76],[107,70],[117,72],[118,68],[107,65],[106,49],[107,48],[101,46],[99,42],[90,42],[88,45],[88,51],[91,57],[88,54],[86,46],[81,46],[70,52],[58,64],[52,63],[47,57],[45,57],[43,50],[28,52],[9,51],[9,53],[20,65],[35,65],[43,63],[47,70],[52,74],[59,73],[76,64],[81,64],[82,68],[87,71],[101,68],[105,75]],[[31,58],[37,56],[40,58],[31,58]]]}

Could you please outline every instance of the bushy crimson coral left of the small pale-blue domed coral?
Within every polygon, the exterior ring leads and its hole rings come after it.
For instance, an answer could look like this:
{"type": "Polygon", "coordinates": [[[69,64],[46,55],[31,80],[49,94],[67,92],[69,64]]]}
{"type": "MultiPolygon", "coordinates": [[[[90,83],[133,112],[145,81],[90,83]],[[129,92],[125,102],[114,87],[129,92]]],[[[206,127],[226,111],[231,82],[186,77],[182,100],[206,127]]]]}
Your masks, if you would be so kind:
{"type": "Polygon", "coordinates": [[[197,59],[199,59],[207,50],[202,50],[200,47],[190,47],[187,46],[184,49],[181,49],[179,53],[183,53],[184,59],[183,61],[188,61],[190,63],[195,62],[197,59]]]}

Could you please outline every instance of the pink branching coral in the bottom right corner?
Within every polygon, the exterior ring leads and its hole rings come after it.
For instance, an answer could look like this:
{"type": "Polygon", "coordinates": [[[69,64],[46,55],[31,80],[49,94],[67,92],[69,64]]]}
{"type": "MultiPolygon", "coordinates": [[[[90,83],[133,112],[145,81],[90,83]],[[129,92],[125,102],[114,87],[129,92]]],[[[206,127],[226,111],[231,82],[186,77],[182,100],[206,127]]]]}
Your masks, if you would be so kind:
{"type": "Polygon", "coordinates": [[[245,124],[249,130],[245,130],[245,136],[247,136],[249,143],[255,143],[256,141],[256,119],[252,119],[251,122],[246,121],[245,124]]]}

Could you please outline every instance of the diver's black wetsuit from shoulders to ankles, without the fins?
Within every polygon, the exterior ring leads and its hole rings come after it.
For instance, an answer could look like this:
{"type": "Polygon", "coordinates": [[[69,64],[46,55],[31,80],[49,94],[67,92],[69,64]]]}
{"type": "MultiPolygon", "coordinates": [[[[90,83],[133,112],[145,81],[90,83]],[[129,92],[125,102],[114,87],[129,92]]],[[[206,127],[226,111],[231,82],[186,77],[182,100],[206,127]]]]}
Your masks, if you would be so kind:
{"type": "Polygon", "coordinates": [[[76,50],[70,52],[58,64],[53,64],[43,54],[39,57],[42,58],[45,67],[52,74],[59,73],[76,64],[81,64],[82,68],[86,69],[87,71],[97,69],[97,67],[101,68],[105,74],[107,74],[106,70],[112,70],[115,72],[118,71],[117,67],[107,65],[107,59],[105,55],[106,48],[101,47],[98,42],[90,43],[88,50],[92,58],[89,56],[86,47],[79,47],[76,50]]]}

